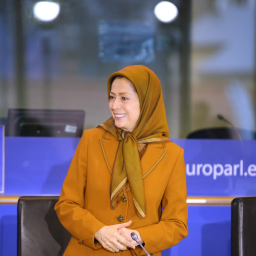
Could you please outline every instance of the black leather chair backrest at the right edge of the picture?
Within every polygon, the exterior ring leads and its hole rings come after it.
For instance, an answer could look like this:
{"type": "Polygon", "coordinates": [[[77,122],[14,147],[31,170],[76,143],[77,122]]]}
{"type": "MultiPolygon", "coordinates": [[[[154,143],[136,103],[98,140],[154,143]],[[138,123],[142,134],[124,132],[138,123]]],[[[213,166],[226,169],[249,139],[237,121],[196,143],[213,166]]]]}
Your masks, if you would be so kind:
{"type": "Polygon", "coordinates": [[[256,197],[231,202],[231,255],[256,255],[256,197]]]}

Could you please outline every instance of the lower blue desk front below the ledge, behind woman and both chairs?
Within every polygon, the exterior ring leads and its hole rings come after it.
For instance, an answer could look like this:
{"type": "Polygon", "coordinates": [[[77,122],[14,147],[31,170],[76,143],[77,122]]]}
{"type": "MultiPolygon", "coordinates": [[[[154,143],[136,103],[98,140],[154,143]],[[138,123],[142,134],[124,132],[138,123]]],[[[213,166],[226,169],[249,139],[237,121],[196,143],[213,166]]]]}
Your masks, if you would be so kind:
{"type": "MultiPolygon", "coordinates": [[[[0,256],[17,255],[16,212],[16,205],[0,205],[0,256]]],[[[230,206],[189,206],[188,228],[163,256],[230,256],[230,206]]]]}

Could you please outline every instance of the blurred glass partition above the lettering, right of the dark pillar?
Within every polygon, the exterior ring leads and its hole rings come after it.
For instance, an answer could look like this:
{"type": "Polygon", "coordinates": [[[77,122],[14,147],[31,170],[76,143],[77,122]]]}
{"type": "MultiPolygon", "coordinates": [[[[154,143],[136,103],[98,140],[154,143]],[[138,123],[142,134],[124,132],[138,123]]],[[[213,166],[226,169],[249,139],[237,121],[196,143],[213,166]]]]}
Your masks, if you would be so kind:
{"type": "Polygon", "coordinates": [[[191,131],[255,139],[255,1],[193,1],[191,131]]]}

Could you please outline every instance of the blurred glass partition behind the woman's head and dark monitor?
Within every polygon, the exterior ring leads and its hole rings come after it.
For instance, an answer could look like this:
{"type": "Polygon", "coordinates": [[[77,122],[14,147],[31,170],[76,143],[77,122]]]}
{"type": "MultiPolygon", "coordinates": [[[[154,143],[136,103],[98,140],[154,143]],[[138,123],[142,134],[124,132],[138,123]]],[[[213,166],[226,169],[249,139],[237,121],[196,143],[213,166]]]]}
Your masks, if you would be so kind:
{"type": "Polygon", "coordinates": [[[10,108],[77,109],[84,128],[95,127],[110,117],[109,75],[142,64],[161,80],[171,136],[188,132],[189,1],[173,1],[171,22],[155,15],[159,1],[38,2],[0,1],[1,117],[10,108]]]}

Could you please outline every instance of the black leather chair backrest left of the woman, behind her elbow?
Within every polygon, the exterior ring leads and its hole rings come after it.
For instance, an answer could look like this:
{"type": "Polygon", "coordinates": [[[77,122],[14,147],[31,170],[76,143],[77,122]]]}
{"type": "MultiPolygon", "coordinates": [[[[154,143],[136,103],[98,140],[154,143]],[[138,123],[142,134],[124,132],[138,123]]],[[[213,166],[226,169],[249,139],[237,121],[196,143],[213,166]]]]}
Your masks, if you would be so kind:
{"type": "Polygon", "coordinates": [[[54,205],[58,197],[20,197],[18,200],[18,256],[62,255],[70,233],[60,224],[54,205]]]}

